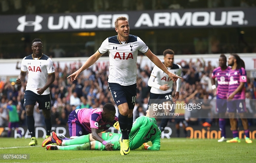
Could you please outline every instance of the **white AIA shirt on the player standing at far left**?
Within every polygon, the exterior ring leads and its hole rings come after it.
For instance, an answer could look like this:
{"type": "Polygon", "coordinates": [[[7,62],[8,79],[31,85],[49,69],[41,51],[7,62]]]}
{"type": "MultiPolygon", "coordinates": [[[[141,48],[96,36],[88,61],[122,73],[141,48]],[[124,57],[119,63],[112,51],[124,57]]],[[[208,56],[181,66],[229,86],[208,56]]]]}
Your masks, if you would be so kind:
{"type": "MultiPolygon", "coordinates": [[[[28,71],[28,82],[26,91],[32,91],[37,94],[38,88],[43,88],[47,82],[48,74],[55,72],[53,61],[50,57],[42,54],[40,58],[34,58],[33,55],[29,55],[22,59],[21,67],[22,72],[28,71]]],[[[42,95],[50,94],[49,88],[47,88],[42,95]]]]}

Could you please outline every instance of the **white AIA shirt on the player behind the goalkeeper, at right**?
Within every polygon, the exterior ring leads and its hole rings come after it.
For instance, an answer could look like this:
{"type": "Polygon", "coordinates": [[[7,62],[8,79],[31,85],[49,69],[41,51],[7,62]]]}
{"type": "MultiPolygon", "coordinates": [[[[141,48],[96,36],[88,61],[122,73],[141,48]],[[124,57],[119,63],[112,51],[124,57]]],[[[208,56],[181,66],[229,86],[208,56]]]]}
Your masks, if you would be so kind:
{"type": "MultiPolygon", "coordinates": [[[[168,69],[169,72],[172,72],[178,76],[181,76],[180,65],[173,63],[172,68],[171,67],[166,67],[166,68],[168,69]]],[[[179,92],[181,88],[181,79],[178,78],[176,83],[177,83],[176,91],[179,92]]],[[[165,72],[162,71],[162,69],[160,69],[158,66],[154,66],[148,81],[148,85],[151,87],[150,92],[153,94],[167,94],[172,92],[173,81],[165,72]],[[160,89],[160,86],[165,84],[168,84],[170,88],[166,91],[163,91],[160,89]]]]}

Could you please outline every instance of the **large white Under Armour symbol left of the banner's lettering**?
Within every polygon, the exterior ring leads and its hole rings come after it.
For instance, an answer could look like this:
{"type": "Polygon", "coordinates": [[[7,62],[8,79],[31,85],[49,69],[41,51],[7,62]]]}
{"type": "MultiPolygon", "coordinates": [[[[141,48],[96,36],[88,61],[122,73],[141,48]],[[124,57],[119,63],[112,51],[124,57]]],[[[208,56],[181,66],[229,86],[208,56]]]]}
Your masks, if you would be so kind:
{"type": "Polygon", "coordinates": [[[17,27],[17,30],[24,32],[25,30],[25,26],[34,26],[34,32],[41,30],[42,29],[42,25],[40,24],[43,21],[43,17],[36,15],[35,16],[35,21],[26,21],[26,15],[19,17],[18,21],[19,21],[19,26],[17,27]]]}

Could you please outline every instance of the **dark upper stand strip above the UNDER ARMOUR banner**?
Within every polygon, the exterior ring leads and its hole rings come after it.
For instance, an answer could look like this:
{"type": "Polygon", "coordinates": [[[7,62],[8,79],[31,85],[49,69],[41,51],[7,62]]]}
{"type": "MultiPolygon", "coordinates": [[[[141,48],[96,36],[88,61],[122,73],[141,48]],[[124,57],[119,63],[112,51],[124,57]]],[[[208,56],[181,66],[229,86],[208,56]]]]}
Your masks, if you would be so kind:
{"type": "Polygon", "coordinates": [[[0,0],[1,15],[254,7],[255,0],[0,0]]]}

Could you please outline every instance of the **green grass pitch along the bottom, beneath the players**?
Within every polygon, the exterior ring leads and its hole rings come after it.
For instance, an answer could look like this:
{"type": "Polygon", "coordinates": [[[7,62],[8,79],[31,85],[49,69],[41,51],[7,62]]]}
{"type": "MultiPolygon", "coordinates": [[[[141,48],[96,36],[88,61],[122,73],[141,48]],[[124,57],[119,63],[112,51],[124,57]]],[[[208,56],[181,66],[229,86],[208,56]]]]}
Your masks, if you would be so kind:
{"type": "MultiPolygon", "coordinates": [[[[3,160],[21,163],[255,163],[256,142],[218,143],[216,139],[161,139],[160,151],[137,149],[126,156],[119,151],[46,151],[29,147],[30,139],[0,138],[0,154],[29,154],[29,160],[3,160]]],[[[150,144],[150,143],[149,143],[150,144]]],[[[151,145],[151,144],[150,144],[151,145]]]]}

